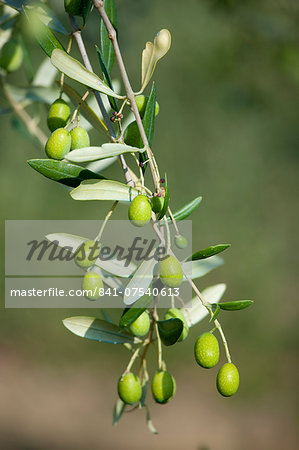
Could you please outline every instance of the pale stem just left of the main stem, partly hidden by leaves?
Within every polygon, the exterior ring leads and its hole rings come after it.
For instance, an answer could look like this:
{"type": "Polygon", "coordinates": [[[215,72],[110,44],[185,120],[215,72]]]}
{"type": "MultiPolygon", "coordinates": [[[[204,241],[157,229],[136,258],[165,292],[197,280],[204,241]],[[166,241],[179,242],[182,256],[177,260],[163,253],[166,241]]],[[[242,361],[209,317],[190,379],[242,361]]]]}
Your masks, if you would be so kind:
{"type": "MultiPolygon", "coordinates": [[[[72,34],[73,34],[74,38],[77,41],[77,45],[78,45],[80,54],[82,56],[84,65],[85,65],[87,70],[89,70],[90,72],[93,72],[93,69],[92,69],[92,66],[90,64],[90,61],[89,61],[89,58],[88,58],[88,55],[87,55],[87,52],[86,52],[86,48],[85,48],[85,45],[84,45],[84,42],[83,42],[83,39],[82,39],[81,30],[78,28],[78,24],[76,22],[75,17],[72,16],[71,14],[69,14],[69,18],[70,18],[70,22],[71,22],[71,25],[72,25],[72,28],[73,28],[73,33],[72,34]]],[[[105,124],[106,124],[106,126],[108,128],[111,141],[114,142],[115,138],[116,138],[115,132],[114,132],[114,129],[113,129],[112,124],[110,122],[110,119],[108,117],[108,114],[107,114],[106,108],[104,106],[101,94],[98,91],[93,91],[93,93],[95,95],[95,98],[97,100],[97,103],[99,105],[101,113],[103,115],[105,124]]],[[[119,155],[119,160],[120,160],[120,163],[121,163],[121,166],[122,166],[122,169],[123,169],[123,172],[124,172],[127,184],[129,186],[134,186],[134,183],[133,183],[132,178],[130,176],[130,172],[128,170],[128,166],[127,166],[127,163],[126,163],[124,155],[119,155]]]]}

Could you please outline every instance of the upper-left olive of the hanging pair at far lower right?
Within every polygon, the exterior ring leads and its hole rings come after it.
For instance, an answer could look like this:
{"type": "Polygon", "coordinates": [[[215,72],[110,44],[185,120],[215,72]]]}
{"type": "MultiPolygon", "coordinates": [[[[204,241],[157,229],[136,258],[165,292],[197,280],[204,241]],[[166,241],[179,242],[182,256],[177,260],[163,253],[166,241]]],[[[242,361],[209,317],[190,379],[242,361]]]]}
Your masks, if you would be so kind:
{"type": "Polygon", "coordinates": [[[219,344],[212,333],[201,334],[194,345],[197,364],[205,369],[216,366],[219,361],[219,344]]]}

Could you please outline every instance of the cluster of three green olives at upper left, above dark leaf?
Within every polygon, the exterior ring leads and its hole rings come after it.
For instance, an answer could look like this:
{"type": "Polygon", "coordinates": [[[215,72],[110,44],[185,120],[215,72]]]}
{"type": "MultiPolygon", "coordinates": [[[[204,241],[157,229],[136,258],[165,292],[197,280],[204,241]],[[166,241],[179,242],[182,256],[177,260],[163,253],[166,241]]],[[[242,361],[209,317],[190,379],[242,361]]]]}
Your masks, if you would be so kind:
{"type": "Polygon", "coordinates": [[[84,128],[76,126],[71,131],[65,128],[70,115],[70,107],[62,98],[55,100],[49,109],[47,124],[52,134],[45,150],[51,159],[62,160],[71,150],[90,145],[88,133],[84,128]]]}

